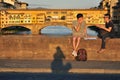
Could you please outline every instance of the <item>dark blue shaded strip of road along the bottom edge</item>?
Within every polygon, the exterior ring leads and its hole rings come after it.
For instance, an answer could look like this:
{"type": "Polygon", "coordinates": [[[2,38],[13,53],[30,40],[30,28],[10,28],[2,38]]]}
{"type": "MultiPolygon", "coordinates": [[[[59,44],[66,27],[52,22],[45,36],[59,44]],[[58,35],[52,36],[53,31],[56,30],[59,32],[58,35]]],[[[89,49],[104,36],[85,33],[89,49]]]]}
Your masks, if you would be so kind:
{"type": "Polygon", "coordinates": [[[120,80],[119,74],[0,73],[0,80],[120,80]]]}

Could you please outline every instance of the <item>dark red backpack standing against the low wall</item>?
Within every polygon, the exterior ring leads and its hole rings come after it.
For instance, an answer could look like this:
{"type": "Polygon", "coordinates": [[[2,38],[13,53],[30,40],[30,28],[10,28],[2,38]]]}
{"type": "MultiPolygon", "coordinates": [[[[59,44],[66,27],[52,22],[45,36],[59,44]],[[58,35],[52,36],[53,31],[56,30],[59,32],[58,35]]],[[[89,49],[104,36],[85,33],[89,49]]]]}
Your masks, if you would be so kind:
{"type": "Polygon", "coordinates": [[[76,61],[87,61],[87,51],[85,49],[79,49],[75,59],[76,61]]]}

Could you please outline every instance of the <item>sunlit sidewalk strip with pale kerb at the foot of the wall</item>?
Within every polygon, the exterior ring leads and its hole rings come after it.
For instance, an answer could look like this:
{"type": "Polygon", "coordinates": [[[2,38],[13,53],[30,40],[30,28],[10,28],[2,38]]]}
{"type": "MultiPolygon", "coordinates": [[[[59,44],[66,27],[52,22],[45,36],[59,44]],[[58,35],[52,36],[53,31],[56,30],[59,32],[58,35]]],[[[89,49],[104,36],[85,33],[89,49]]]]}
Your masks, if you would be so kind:
{"type": "Polygon", "coordinates": [[[0,72],[120,74],[120,61],[0,60],[0,72]]]}

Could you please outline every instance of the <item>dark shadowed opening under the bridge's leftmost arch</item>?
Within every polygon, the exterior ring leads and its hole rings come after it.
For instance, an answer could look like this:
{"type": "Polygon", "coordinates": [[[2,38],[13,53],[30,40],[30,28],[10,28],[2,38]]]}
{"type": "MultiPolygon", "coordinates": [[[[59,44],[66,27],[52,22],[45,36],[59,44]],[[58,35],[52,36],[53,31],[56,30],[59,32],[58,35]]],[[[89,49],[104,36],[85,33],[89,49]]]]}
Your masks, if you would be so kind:
{"type": "Polygon", "coordinates": [[[31,30],[24,26],[7,26],[1,28],[1,34],[30,34],[31,30]]]}

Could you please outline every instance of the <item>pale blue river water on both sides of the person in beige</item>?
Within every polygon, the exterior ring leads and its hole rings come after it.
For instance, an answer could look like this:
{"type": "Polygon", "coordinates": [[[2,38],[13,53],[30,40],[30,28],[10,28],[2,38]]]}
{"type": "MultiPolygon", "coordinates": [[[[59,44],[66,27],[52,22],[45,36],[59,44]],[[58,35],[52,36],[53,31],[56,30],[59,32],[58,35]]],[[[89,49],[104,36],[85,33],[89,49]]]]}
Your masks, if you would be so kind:
{"type": "MultiPolygon", "coordinates": [[[[58,36],[66,36],[72,35],[72,30],[68,29],[65,26],[48,26],[41,30],[42,35],[58,35],[58,36]]],[[[97,36],[97,32],[87,28],[87,34],[89,36],[97,36]]]]}

